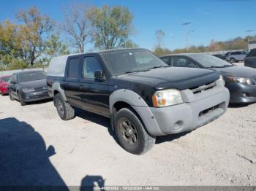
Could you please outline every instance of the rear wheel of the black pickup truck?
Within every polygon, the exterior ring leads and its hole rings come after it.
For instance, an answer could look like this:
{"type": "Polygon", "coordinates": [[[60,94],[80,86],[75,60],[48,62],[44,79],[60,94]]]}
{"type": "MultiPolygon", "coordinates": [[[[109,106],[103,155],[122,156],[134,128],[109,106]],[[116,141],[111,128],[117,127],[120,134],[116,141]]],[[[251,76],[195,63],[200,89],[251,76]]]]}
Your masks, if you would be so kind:
{"type": "Polygon", "coordinates": [[[71,120],[75,117],[75,110],[69,105],[69,103],[64,101],[61,94],[57,93],[54,95],[54,102],[56,104],[59,117],[61,117],[62,120],[71,120]]]}

